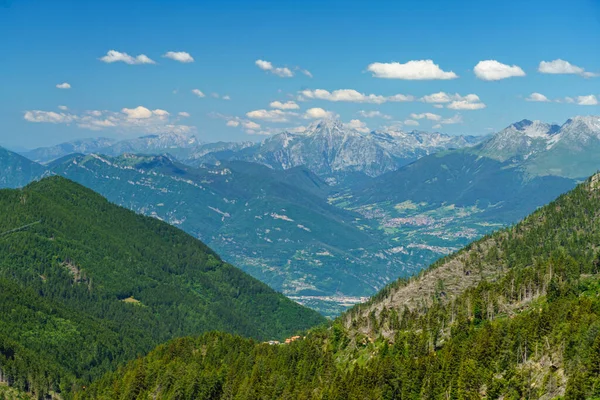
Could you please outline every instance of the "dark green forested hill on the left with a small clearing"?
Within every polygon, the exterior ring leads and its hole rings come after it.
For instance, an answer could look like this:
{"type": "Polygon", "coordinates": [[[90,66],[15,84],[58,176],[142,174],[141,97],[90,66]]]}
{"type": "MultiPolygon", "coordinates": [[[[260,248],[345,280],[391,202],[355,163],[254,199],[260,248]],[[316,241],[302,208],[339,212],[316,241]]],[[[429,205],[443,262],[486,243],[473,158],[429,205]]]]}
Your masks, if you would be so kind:
{"type": "Polygon", "coordinates": [[[64,178],[0,191],[0,381],[87,385],[174,337],[283,338],[323,322],[154,218],[64,178]]]}

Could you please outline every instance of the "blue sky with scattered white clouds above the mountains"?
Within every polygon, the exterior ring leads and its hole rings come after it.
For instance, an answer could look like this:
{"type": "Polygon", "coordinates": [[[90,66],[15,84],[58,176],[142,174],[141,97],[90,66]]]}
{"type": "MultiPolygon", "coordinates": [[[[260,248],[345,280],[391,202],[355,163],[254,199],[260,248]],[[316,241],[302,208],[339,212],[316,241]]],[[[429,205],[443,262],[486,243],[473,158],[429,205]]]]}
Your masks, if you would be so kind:
{"type": "Polygon", "coordinates": [[[171,130],[260,140],[323,115],[484,134],[600,114],[598,0],[0,0],[0,37],[10,148],[171,130]],[[110,50],[121,61],[102,61],[110,50]]]}

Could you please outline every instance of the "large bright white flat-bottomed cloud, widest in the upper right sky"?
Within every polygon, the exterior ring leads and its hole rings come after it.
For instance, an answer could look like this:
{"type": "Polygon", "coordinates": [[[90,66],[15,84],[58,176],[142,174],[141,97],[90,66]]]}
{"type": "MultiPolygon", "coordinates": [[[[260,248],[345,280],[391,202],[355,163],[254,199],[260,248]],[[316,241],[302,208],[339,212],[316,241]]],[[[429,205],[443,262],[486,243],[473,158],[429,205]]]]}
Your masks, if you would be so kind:
{"type": "Polygon", "coordinates": [[[446,72],[432,60],[413,60],[405,64],[372,63],[367,70],[376,78],[406,79],[406,80],[432,80],[432,79],[456,79],[458,75],[454,72],[446,72]]]}

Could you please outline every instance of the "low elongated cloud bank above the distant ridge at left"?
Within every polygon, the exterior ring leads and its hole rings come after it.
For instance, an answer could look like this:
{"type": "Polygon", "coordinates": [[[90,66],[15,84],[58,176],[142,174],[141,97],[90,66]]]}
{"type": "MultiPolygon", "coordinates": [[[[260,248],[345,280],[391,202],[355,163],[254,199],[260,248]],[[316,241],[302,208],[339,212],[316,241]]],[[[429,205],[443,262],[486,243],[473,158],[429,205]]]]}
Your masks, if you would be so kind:
{"type": "Polygon", "coordinates": [[[119,132],[135,133],[190,133],[192,126],[173,124],[168,111],[150,110],[143,106],[123,108],[121,112],[89,110],[81,114],[56,113],[53,111],[26,111],[24,119],[29,122],[71,124],[90,130],[114,129],[119,132]]]}

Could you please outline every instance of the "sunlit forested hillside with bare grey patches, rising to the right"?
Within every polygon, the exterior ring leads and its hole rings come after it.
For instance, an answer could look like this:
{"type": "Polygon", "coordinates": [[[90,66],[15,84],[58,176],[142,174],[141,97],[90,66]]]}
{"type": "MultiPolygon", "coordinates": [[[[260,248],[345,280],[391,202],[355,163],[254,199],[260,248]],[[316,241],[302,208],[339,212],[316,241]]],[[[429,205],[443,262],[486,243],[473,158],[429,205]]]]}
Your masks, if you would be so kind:
{"type": "Polygon", "coordinates": [[[172,341],[82,398],[600,396],[600,177],[289,344],[172,341]],[[436,275],[446,271],[444,275],[436,275]],[[458,272],[457,272],[458,271],[458,272]],[[475,277],[474,277],[475,276],[475,277]],[[474,277],[474,278],[473,278],[474,277]],[[404,289],[430,287],[411,297],[404,289]]]}

